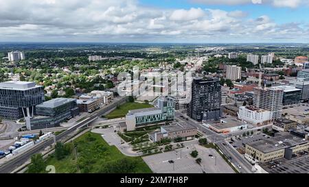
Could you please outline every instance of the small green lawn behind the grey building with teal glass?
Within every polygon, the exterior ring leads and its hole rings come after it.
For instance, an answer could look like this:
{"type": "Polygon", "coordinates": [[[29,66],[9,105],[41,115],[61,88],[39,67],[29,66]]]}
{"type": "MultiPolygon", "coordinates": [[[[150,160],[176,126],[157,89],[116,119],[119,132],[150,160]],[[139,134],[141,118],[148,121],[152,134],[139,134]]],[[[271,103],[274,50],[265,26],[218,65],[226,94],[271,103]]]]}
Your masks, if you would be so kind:
{"type": "Polygon", "coordinates": [[[128,102],[124,103],[124,105],[120,105],[119,108],[116,108],[111,113],[106,115],[107,119],[117,119],[126,116],[129,110],[141,109],[141,108],[152,108],[153,105],[146,103],[135,103],[128,102]]]}

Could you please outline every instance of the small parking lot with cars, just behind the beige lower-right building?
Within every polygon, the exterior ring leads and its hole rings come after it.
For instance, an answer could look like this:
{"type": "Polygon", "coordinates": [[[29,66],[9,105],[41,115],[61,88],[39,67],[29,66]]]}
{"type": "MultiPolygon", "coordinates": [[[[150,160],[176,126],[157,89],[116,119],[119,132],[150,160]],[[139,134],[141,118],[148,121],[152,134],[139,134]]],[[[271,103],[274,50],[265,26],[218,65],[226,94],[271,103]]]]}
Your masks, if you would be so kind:
{"type": "Polygon", "coordinates": [[[253,134],[253,135],[249,135],[246,137],[240,137],[240,138],[235,138],[232,137],[228,138],[227,141],[229,142],[229,144],[234,147],[235,149],[244,149],[244,145],[248,142],[255,142],[258,140],[262,140],[262,139],[266,139],[269,136],[264,134],[264,133],[260,133],[260,134],[253,134]]]}

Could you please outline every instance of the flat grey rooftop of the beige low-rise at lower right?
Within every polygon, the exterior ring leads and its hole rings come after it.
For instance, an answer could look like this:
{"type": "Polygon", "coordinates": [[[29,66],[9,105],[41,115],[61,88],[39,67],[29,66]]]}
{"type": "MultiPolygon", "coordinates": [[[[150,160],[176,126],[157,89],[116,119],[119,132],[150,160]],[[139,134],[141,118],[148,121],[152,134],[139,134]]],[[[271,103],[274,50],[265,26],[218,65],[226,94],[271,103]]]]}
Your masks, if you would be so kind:
{"type": "Polygon", "coordinates": [[[285,149],[288,147],[293,147],[295,145],[300,145],[303,143],[309,142],[308,140],[304,140],[303,138],[299,138],[297,136],[293,136],[288,132],[280,132],[275,134],[275,137],[266,138],[263,140],[258,140],[255,142],[248,142],[247,145],[258,149],[263,153],[270,153],[273,151],[277,151],[280,149],[285,149]]]}

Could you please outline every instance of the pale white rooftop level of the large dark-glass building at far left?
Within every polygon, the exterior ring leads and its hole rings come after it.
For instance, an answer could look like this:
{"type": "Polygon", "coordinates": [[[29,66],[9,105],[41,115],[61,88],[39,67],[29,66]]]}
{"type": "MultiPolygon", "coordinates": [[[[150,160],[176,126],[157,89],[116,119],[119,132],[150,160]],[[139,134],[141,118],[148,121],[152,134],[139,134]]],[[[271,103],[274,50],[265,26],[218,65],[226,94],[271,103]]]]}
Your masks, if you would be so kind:
{"type": "Polygon", "coordinates": [[[0,83],[0,89],[9,89],[9,90],[28,90],[36,87],[41,86],[37,86],[35,82],[9,81],[0,83]]]}

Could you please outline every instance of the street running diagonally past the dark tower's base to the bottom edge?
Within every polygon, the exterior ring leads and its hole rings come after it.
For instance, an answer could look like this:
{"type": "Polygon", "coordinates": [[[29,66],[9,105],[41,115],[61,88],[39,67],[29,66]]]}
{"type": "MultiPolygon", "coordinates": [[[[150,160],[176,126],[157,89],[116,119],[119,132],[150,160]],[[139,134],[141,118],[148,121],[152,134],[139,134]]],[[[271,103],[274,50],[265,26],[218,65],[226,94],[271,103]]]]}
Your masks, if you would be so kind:
{"type": "Polygon", "coordinates": [[[230,159],[230,161],[236,166],[238,167],[238,165],[240,165],[242,167],[242,169],[238,170],[240,171],[240,173],[252,173],[251,169],[252,169],[252,165],[245,160],[245,158],[240,155],[236,149],[233,149],[233,147],[228,147],[229,143],[227,143],[227,141],[225,141],[225,138],[227,138],[227,136],[223,135],[223,134],[217,134],[216,132],[211,131],[210,129],[208,129],[207,127],[204,127],[203,125],[201,125],[201,123],[198,123],[192,119],[190,119],[190,117],[187,117],[186,114],[183,114],[181,112],[176,112],[175,113],[175,118],[179,121],[187,121],[187,123],[189,123],[190,125],[193,125],[194,127],[197,127],[198,130],[200,130],[201,132],[203,132],[206,136],[206,138],[208,140],[210,140],[211,142],[214,142],[218,145],[218,147],[221,149],[221,151],[227,155],[227,157],[231,157],[232,159],[230,159]],[[183,118],[181,117],[183,116],[183,118]],[[187,120],[186,120],[187,118],[187,120]],[[222,143],[225,143],[225,145],[222,145],[222,143]]]}

